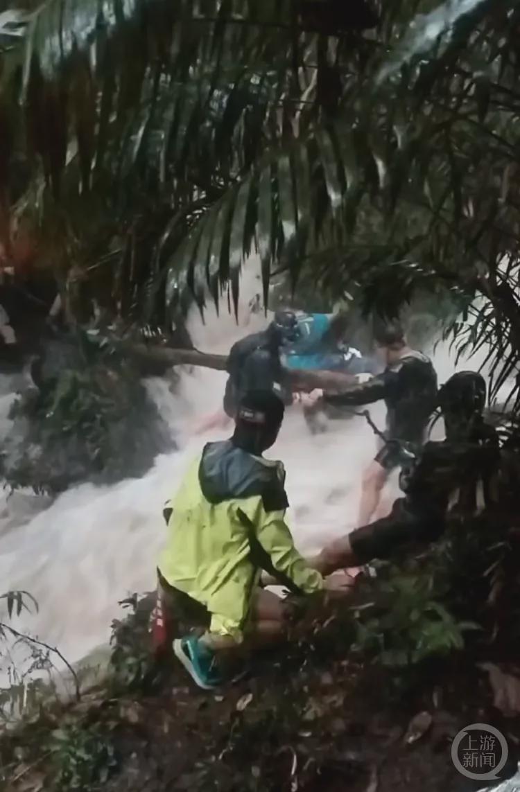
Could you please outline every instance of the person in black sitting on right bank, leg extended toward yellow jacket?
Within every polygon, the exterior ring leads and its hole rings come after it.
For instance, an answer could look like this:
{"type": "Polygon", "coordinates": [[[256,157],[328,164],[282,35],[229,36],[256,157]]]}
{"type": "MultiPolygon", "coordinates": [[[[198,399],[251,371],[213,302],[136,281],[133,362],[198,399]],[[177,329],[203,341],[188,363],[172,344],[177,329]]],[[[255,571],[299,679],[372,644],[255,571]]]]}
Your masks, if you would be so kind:
{"type": "Polygon", "coordinates": [[[499,438],[484,422],[486,385],[480,374],[461,371],[439,391],[446,439],[422,447],[400,478],[404,497],[389,516],[364,525],[323,548],[312,564],[322,574],[386,559],[410,543],[432,542],[448,516],[476,514],[495,501],[499,438]]]}

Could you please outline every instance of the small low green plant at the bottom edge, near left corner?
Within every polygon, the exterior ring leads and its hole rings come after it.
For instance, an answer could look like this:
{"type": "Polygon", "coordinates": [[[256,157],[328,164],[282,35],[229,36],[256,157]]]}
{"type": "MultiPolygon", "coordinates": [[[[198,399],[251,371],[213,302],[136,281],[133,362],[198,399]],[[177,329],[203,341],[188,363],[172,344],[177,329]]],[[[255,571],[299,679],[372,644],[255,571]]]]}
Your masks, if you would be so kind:
{"type": "Polygon", "coordinates": [[[97,725],[71,723],[55,729],[49,750],[55,765],[56,790],[87,790],[105,783],[117,766],[113,744],[97,725]]]}

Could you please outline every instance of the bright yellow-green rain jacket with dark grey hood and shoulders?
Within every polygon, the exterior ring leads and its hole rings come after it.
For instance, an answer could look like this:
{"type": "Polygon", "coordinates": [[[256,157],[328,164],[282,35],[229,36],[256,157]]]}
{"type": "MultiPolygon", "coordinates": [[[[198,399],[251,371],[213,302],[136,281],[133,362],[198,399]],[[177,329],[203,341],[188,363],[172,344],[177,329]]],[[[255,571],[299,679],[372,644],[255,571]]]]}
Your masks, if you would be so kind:
{"type": "Polygon", "coordinates": [[[285,470],[235,447],[208,443],[166,503],[162,577],[208,608],[210,630],[239,641],[262,569],[289,591],[311,594],[323,578],[292,542],[285,470]]]}

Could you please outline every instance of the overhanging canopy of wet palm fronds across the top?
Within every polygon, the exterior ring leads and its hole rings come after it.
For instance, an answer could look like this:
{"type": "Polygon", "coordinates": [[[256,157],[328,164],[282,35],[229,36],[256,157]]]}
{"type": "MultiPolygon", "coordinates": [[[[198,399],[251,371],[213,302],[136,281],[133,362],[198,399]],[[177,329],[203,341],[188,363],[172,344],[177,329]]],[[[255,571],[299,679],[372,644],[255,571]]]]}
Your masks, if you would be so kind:
{"type": "Polygon", "coordinates": [[[348,8],[48,0],[3,55],[6,202],[63,295],[125,321],[166,322],[183,284],[236,302],[251,249],[266,294],[280,270],[387,312],[449,292],[498,388],[518,364],[518,4],[348,8]]]}

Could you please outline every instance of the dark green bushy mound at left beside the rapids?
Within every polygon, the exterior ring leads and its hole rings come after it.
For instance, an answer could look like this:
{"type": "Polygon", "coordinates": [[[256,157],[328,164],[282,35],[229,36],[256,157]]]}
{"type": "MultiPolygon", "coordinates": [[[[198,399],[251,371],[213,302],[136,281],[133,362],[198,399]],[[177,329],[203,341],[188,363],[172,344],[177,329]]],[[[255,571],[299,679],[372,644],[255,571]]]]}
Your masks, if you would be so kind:
{"type": "Polygon", "coordinates": [[[5,474],[13,487],[55,493],[78,481],[141,475],[173,444],[139,371],[88,337],[71,344],[66,365],[58,358],[44,370],[39,390],[23,394],[11,417],[18,440],[14,447],[7,440],[5,474]]]}

